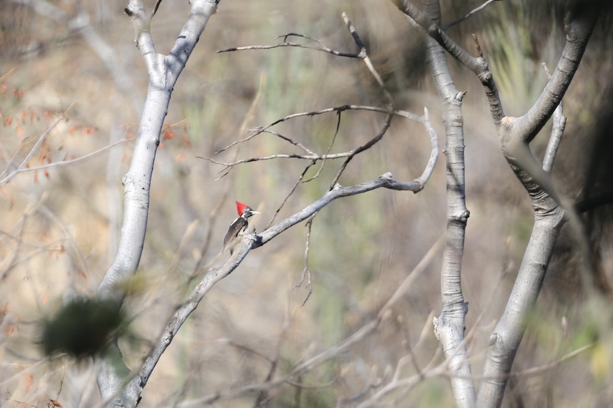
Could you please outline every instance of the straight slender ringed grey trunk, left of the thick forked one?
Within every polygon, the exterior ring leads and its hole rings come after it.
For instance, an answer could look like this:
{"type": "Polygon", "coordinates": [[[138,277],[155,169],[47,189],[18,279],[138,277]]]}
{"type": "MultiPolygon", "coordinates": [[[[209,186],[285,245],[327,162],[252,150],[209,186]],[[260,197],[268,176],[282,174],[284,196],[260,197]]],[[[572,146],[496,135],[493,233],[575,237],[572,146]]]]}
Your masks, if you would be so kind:
{"type": "MultiPolygon", "coordinates": [[[[433,21],[440,21],[438,0],[424,1],[433,21]]],[[[462,100],[466,91],[455,87],[444,49],[427,39],[427,59],[443,103],[447,161],[446,245],[441,265],[441,314],[433,319],[434,333],[443,346],[447,367],[453,373],[451,388],[455,406],[473,408],[476,402],[471,367],[466,357],[465,317],[468,303],[462,294],[462,258],[469,212],[466,209],[465,160],[462,100]],[[457,374],[457,376],[455,375],[457,374]]]]}

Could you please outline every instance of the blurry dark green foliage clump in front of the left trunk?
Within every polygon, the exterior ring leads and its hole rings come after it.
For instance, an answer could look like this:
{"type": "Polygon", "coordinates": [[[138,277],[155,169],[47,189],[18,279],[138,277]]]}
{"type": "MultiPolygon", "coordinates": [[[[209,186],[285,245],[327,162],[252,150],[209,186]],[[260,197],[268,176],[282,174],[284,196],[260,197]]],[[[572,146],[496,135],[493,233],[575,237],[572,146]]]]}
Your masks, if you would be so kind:
{"type": "Polygon", "coordinates": [[[111,302],[75,299],[45,322],[42,346],[45,354],[66,352],[77,358],[104,353],[109,340],[124,322],[111,302]]]}

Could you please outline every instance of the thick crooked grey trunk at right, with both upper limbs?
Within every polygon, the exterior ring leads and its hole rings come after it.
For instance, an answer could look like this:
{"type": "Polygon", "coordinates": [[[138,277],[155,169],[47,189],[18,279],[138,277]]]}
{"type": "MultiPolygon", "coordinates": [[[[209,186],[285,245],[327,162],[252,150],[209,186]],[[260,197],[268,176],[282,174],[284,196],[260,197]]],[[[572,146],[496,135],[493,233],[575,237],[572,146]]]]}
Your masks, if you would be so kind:
{"type": "MultiPolygon", "coordinates": [[[[524,116],[514,118],[504,116],[493,77],[482,57],[474,58],[462,50],[430,20],[426,13],[421,12],[407,0],[392,1],[445,50],[479,76],[485,86],[490,113],[498,129],[504,157],[533,200],[535,226],[507,308],[490,335],[490,344],[493,346],[484,367],[486,376],[504,377],[511,369],[517,347],[524,334],[525,316],[536,301],[552,248],[563,223],[563,210],[558,206],[560,199],[555,194],[550,175],[531,154],[528,143],[543,128],[562,101],[581,61],[600,7],[596,3],[586,7],[571,5],[573,10],[568,13],[565,24],[566,46],[554,75],[530,110],[524,116]]],[[[439,15],[440,13],[435,17],[439,15]]],[[[550,163],[547,163],[546,167],[549,165],[550,163]]],[[[479,406],[499,407],[505,386],[506,379],[484,382],[479,389],[479,406]]]]}

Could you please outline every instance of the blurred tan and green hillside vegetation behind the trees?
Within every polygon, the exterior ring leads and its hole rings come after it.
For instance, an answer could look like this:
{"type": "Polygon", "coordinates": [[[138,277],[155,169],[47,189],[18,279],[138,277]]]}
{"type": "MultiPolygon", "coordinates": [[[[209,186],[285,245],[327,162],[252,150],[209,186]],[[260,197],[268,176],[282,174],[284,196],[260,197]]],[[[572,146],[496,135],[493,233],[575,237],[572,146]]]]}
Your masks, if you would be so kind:
{"type": "MultiPolygon", "coordinates": [[[[505,112],[523,114],[546,83],[541,62],[553,70],[564,44],[564,2],[495,2],[448,30],[473,50],[479,36],[500,88],[505,112]]],[[[134,137],[147,90],[147,73],[123,15],[124,2],[50,1],[65,15],[89,16],[112,49],[106,62],[79,31],[25,4],[0,3],[0,171],[14,169],[39,136],[61,119],[28,162],[29,167],[80,157],[122,138],[134,137]],[[112,67],[112,70],[109,69],[112,67]],[[121,85],[117,72],[123,72],[121,85]],[[12,166],[12,167],[10,167],[12,166]]],[[[479,1],[443,1],[444,23],[479,1]]],[[[151,9],[153,2],[147,2],[151,9]]],[[[188,13],[186,1],[164,0],[151,30],[166,54],[188,13]]],[[[139,273],[124,306],[131,319],[121,347],[136,369],[164,322],[221,250],[234,200],[258,207],[262,229],[308,163],[295,159],[237,166],[219,180],[219,161],[293,153],[275,136],[262,134],[214,153],[287,114],[352,104],[382,106],[375,81],[362,61],[299,48],[216,53],[242,45],[267,45],[277,35],[299,32],[330,48],[355,52],[340,18],[348,13],[384,76],[397,107],[416,114],[430,109],[444,143],[440,102],[425,65],[424,43],[392,2],[318,0],[287,2],[223,0],[217,15],[181,74],[172,95],[156,160],[147,240],[139,273]],[[254,106],[251,114],[249,109],[254,106]],[[218,210],[218,207],[220,210],[218,210]],[[213,215],[213,217],[211,217],[213,215]],[[212,240],[207,240],[211,233],[212,240]],[[208,245],[207,245],[208,243],[208,245]]],[[[611,19],[603,15],[584,61],[565,97],[565,138],[554,166],[562,193],[581,198],[610,191],[611,19]],[[607,110],[609,109],[609,110],[607,110]]],[[[463,289],[470,302],[468,330],[473,373],[481,371],[487,335],[500,316],[530,236],[530,201],[506,165],[479,81],[449,61],[464,100],[466,200],[471,212],[463,259],[463,289]],[[476,325],[477,324],[477,325],[476,325]]],[[[325,152],[337,117],[300,118],[274,128],[325,152]]],[[[378,132],[384,116],[345,112],[332,148],[343,152],[378,132]]],[[[549,128],[533,143],[542,155],[549,128]]],[[[123,207],[121,177],[132,141],[86,161],[17,174],[0,195],[1,404],[94,406],[99,395],[89,362],[43,360],[41,324],[75,295],[92,295],[116,250],[123,207]]],[[[375,179],[390,171],[413,180],[428,160],[430,143],[421,125],[395,118],[373,149],[348,166],[341,184],[375,179]]],[[[341,162],[328,161],[321,175],[300,184],[276,220],[302,209],[329,188],[341,162]]],[[[313,176],[316,169],[307,173],[313,176]]],[[[1,177],[0,177],[1,178],[1,177]]],[[[613,278],[610,207],[586,217],[592,268],[581,265],[577,237],[564,229],[558,251],[514,370],[554,362],[568,352],[596,346],[536,375],[514,377],[505,406],[611,406],[613,278]],[[568,321],[568,329],[562,318],[568,321]]],[[[296,226],[257,251],[221,281],[181,328],[143,392],[140,406],[172,406],[217,392],[264,382],[276,362],[281,376],[316,352],[333,346],[371,321],[445,227],[444,157],[424,191],[376,190],[332,202],[313,223],[309,267],[313,293],[300,282],[307,229],[296,226]]],[[[374,335],[351,351],[319,365],[295,382],[260,396],[269,406],[355,406],[351,400],[375,382],[389,380],[401,358],[415,362],[403,376],[424,368],[439,347],[431,313],[440,313],[440,256],[398,302],[374,335]],[[425,330],[424,330],[425,327],[425,330]],[[422,338],[422,330],[424,337],[422,338]],[[421,339],[418,343],[418,339],[421,339]]],[[[216,259],[218,264],[220,259],[216,259]]],[[[441,357],[436,357],[441,362],[441,357]]],[[[369,396],[370,394],[366,394],[369,396]]],[[[216,402],[254,406],[257,392],[216,402]]],[[[391,396],[407,407],[452,406],[447,379],[423,380],[391,396]]],[[[264,402],[263,402],[264,403],[264,402]]]]}

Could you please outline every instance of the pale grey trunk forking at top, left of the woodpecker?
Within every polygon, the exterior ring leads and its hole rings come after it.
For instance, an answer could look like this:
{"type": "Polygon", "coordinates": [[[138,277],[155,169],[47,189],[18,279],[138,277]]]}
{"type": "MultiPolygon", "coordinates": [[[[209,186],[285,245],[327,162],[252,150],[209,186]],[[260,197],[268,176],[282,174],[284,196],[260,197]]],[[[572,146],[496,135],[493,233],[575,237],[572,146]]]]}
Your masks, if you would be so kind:
{"type": "MultiPolygon", "coordinates": [[[[170,95],[178,77],[194,50],[208,18],[216,12],[214,0],[192,0],[183,29],[168,55],[158,54],[150,32],[150,19],[140,0],[132,0],[126,7],[135,29],[135,45],[147,65],[149,86],[140,120],[137,140],[128,173],[123,176],[124,215],[117,253],[98,287],[101,299],[112,300],[121,307],[125,291],[120,283],[136,272],[145,242],[149,192],[153,164],[160,141],[170,95]]],[[[158,357],[159,358],[159,357],[158,357]]],[[[121,360],[116,344],[111,352],[98,360],[98,387],[110,407],[135,407],[147,377],[130,376],[130,370],[121,360]]]]}

